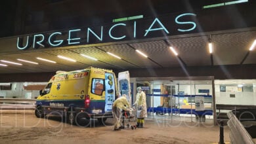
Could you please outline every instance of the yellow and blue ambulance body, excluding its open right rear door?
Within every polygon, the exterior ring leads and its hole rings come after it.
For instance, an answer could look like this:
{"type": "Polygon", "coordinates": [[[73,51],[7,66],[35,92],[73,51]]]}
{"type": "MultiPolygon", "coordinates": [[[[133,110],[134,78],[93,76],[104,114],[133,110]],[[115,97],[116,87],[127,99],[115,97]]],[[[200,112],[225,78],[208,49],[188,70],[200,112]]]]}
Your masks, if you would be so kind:
{"type": "Polygon", "coordinates": [[[60,115],[75,124],[77,118],[112,117],[117,98],[116,76],[112,70],[89,67],[77,71],[57,71],[36,100],[35,116],[60,115]]]}

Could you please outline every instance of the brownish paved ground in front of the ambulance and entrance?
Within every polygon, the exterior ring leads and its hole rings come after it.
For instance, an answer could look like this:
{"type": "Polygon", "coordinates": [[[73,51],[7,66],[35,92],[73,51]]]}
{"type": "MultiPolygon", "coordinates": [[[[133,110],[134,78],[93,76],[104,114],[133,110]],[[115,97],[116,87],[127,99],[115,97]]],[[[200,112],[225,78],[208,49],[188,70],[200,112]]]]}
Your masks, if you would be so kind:
{"type": "MultiPolygon", "coordinates": [[[[12,111],[13,112],[13,111],[12,111]]],[[[33,111],[0,113],[0,143],[218,143],[219,126],[213,122],[184,122],[146,118],[144,128],[114,131],[114,119],[78,120],[66,123],[62,117],[37,118],[33,111]]],[[[135,124],[134,122],[129,122],[135,124]]],[[[229,128],[224,126],[228,143],[229,128]]]]}

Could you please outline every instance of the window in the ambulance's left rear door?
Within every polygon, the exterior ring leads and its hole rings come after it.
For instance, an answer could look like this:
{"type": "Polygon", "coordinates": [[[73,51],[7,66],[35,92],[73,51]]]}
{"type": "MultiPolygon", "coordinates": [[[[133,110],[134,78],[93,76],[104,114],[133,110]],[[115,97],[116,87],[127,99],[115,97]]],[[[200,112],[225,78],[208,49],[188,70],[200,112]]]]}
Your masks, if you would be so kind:
{"type": "Polygon", "coordinates": [[[93,78],[91,86],[92,86],[92,88],[91,88],[92,94],[102,96],[102,92],[104,91],[104,79],[93,78]]]}

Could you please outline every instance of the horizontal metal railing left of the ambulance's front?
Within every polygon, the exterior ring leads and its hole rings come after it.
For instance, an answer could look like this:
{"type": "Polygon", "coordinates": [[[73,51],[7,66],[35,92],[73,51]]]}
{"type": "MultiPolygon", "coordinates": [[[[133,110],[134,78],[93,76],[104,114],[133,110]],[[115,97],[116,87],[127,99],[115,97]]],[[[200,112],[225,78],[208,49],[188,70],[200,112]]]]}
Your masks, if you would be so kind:
{"type": "Polygon", "coordinates": [[[33,110],[36,99],[0,98],[0,110],[33,110]]]}

